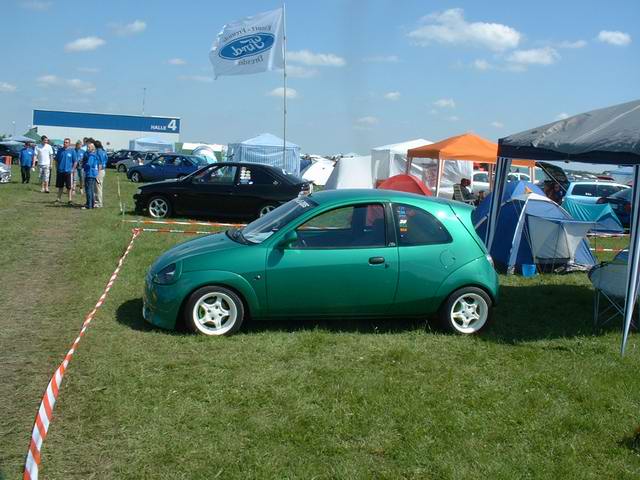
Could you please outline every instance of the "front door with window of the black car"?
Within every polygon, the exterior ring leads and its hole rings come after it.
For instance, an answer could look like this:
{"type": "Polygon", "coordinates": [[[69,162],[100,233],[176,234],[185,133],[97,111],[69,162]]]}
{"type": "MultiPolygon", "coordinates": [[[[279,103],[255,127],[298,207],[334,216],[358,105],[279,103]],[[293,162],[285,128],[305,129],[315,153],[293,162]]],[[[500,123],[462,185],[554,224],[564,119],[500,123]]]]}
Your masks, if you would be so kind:
{"type": "Polygon", "coordinates": [[[209,217],[234,216],[233,190],[237,171],[235,165],[212,165],[185,179],[188,183],[184,184],[176,200],[178,210],[209,217]]]}

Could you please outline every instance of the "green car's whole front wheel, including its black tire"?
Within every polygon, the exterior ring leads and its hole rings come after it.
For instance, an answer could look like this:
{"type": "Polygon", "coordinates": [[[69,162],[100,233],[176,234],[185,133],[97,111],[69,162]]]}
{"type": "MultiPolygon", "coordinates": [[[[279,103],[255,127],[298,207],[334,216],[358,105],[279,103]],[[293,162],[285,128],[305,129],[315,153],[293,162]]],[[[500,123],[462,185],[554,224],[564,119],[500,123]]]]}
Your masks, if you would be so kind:
{"type": "Polygon", "coordinates": [[[191,294],[184,307],[183,320],[187,330],[193,333],[210,337],[233,335],[242,326],[244,304],[234,291],[209,285],[191,294]]]}

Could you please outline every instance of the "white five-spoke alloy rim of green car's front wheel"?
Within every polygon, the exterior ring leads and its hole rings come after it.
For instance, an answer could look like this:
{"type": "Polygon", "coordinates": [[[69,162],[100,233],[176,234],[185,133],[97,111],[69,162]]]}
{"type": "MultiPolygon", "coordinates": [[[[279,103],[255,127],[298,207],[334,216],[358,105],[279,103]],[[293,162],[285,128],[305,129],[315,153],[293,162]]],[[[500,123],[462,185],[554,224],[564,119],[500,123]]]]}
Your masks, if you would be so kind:
{"type": "Polygon", "coordinates": [[[193,326],[205,335],[224,335],[238,320],[238,307],[230,295],[213,291],[196,300],[191,310],[193,326]]]}

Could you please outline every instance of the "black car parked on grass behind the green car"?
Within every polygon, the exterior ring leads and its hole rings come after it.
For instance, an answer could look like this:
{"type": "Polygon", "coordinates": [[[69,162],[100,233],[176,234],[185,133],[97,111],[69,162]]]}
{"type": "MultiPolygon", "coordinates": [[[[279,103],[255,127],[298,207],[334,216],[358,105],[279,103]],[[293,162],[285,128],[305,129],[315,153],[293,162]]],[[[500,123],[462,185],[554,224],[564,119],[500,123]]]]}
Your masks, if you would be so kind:
{"type": "Polygon", "coordinates": [[[133,198],[136,211],[154,218],[255,218],[309,189],[308,182],[269,165],[224,162],[178,180],[143,185],[133,198]]]}

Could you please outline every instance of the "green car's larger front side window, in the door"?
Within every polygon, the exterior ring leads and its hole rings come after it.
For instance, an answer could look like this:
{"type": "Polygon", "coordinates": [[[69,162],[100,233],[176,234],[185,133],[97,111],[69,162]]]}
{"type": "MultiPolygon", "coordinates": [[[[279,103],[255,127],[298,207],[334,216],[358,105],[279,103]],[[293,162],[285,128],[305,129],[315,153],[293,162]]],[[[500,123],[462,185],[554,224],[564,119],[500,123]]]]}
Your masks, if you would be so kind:
{"type": "Polygon", "coordinates": [[[293,248],[377,248],[386,246],[384,207],[363,204],[321,213],[299,226],[293,248]]]}

